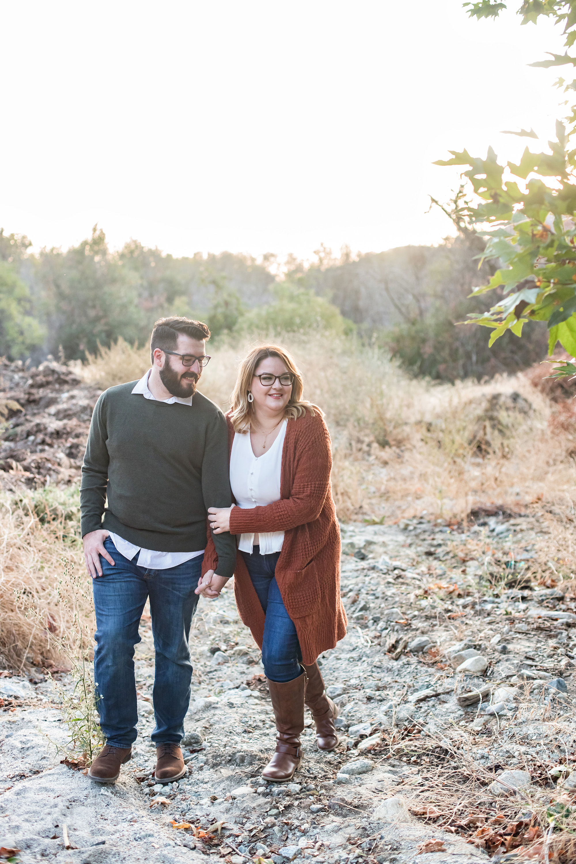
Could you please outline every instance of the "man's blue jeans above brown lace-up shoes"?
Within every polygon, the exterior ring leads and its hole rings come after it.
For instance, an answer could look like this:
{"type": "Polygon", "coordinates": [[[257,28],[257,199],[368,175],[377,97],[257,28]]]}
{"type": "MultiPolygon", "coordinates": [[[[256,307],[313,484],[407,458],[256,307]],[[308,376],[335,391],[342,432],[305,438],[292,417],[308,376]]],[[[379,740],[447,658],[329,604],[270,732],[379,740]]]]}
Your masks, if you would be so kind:
{"type": "Polygon", "coordinates": [[[94,680],[97,683],[100,726],[108,744],[130,747],[136,740],[136,681],[134,647],[141,641],[138,625],[150,598],[155,645],[154,713],[151,735],[155,745],[180,744],[184,715],[190,702],[192,663],[188,637],[198,605],[202,556],[166,570],[138,567],[120,555],[110,537],[104,549],[114,567],[100,556],[102,575],[92,579],[96,607],[94,680]]]}

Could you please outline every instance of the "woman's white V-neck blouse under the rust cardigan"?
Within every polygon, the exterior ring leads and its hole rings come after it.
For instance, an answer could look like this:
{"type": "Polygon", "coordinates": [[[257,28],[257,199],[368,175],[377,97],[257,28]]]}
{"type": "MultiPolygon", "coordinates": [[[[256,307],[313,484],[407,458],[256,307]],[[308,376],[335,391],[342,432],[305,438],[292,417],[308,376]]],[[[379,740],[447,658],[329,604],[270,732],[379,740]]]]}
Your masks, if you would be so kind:
{"type": "MultiPolygon", "coordinates": [[[[238,507],[252,510],[265,507],[280,500],[280,473],[282,469],[282,448],[286,435],[286,420],[269,450],[256,457],[250,444],[250,432],[234,435],[230,456],[230,485],[238,507]]],[[[284,531],[259,533],[260,554],[270,555],[280,552],[284,531]]],[[[241,534],[238,549],[250,552],[254,545],[254,534],[241,534]]]]}

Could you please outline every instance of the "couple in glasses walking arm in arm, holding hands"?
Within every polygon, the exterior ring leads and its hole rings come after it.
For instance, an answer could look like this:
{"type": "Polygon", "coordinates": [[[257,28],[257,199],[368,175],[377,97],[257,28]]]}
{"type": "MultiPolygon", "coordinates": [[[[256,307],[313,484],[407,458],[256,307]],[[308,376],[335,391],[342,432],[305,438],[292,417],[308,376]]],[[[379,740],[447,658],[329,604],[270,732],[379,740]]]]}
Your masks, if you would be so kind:
{"type": "Polygon", "coordinates": [[[276,723],[263,778],[301,764],[304,709],[317,746],[338,745],[338,710],[316,662],[345,635],[330,435],[278,346],[242,360],[226,414],[196,390],[210,357],[206,324],[156,321],[152,368],[104,391],[92,415],[80,486],[97,631],[94,680],[106,741],[88,776],[114,783],[136,740],[134,648],[149,598],[155,643],[155,779],[186,771],[188,638],[199,595],[234,575],[238,612],[262,648],[276,723]]]}

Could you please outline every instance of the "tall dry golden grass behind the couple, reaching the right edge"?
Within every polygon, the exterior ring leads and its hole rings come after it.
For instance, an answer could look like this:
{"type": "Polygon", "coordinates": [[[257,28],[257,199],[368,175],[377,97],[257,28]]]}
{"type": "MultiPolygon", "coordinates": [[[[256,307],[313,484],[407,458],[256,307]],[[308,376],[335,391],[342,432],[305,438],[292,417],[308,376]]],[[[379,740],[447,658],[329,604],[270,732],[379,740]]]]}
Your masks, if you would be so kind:
{"type": "MultiPolygon", "coordinates": [[[[227,410],[240,359],[264,341],[212,344],[199,389],[227,410]]],[[[410,378],[386,353],[352,338],[286,334],[270,341],[294,354],[305,396],[326,413],[341,519],[397,519],[421,511],[463,518],[476,505],[514,509],[570,494],[576,479],[572,411],[551,402],[529,376],[432,384],[410,378]]],[[[148,366],[147,349],[119,340],[100,349],[81,373],[106,387],[139,378],[148,366]]]]}

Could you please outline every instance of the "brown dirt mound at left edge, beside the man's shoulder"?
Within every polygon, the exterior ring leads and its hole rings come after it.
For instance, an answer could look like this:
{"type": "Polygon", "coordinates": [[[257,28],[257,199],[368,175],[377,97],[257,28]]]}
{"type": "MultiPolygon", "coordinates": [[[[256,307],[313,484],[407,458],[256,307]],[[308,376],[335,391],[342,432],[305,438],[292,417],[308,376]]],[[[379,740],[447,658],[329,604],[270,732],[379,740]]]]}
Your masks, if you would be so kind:
{"type": "Polygon", "coordinates": [[[0,487],[78,482],[99,394],[54,360],[0,359],[0,487]]]}

